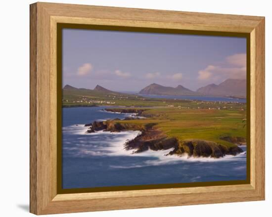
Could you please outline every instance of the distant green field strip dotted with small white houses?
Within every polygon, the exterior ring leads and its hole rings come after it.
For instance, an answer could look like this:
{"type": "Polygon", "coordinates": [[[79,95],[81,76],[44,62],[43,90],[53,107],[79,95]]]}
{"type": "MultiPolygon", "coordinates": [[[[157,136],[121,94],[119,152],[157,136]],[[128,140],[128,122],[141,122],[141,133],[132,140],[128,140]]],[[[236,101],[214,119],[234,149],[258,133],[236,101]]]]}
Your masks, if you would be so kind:
{"type": "Polygon", "coordinates": [[[63,90],[63,107],[69,106],[128,106],[179,107],[180,109],[243,110],[245,103],[207,102],[198,100],[159,99],[125,93],[104,93],[90,89],[63,90]]]}

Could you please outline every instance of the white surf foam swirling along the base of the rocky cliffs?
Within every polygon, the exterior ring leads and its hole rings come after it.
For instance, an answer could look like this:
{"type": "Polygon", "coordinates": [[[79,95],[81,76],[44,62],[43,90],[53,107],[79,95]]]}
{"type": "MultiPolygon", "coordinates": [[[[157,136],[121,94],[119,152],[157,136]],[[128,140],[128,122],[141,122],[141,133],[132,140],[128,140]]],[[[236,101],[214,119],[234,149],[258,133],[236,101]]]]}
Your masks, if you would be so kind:
{"type": "MultiPolygon", "coordinates": [[[[64,147],[65,150],[73,151],[74,155],[79,157],[92,156],[131,156],[131,157],[146,157],[149,160],[142,161],[140,165],[128,165],[128,166],[112,166],[113,168],[136,168],[146,166],[158,166],[167,164],[177,164],[180,162],[220,162],[220,161],[246,161],[246,152],[242,152],[233,155],[226,155],[222,158],[212,157],[188,157],[184,154],[178,155],[167,155],[173,149],[167,150],[147,150],[141,153],[133,153],[135,150],[126,150],[124,145],[127,141],[134,139],[141,132],[137,130],[127,130],[121,132],[110,132],[110,131],[97,131],[93,133],[86,133],[89,127],[84,125],[73,125],[63,128],[63,133],[82,135],[77,140],[77,144],[73,147],[64,147]],[[150,158],[152,160],[150,160],[150,158]]],[[[64,141],[66,144],[71,142],[64,141]]],[[[245,149],[246,146],[240,146],[245,149]]]]}

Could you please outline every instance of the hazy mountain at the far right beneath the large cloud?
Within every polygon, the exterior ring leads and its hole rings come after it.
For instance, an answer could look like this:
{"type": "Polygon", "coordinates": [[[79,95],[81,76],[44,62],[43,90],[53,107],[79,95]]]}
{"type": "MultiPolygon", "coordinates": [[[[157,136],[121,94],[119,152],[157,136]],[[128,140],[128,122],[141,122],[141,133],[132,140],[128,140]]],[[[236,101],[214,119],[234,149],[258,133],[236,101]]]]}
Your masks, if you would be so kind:
{"type": "Polygon", "coordinates": [[[196,90],[203,95],[246,97],[245,79],[227,79],[219,85],[211,84],[196,90]]]}

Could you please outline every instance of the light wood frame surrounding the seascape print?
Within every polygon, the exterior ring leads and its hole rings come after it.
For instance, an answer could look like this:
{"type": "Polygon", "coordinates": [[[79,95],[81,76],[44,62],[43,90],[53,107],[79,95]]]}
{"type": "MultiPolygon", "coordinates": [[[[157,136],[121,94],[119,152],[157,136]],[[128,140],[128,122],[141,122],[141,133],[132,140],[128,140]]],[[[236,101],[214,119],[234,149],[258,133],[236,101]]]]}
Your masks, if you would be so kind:
{"type": "Polygon", "coordinates": [[[265,18],[38,2],[30,5],[30,212],[73,213],[265,199],[265,18]],[[250,184],[57,194],[57,23],[250,34],[250,184]]]}

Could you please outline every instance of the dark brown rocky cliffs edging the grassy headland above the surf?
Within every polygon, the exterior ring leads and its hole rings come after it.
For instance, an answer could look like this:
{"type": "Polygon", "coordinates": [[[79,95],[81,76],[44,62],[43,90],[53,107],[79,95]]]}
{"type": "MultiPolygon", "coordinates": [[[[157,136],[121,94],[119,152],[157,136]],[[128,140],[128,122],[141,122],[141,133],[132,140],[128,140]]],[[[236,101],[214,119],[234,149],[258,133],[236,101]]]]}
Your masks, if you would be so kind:
{"type": "MultiPolygon", "coordinates": [[[[124,122],[124,120],[135,120],[137,116],[143,116],[144,111],[148,109],[117,108],[105,109],[108,112],[136,113],[136,117],[127,117],[123,120],[111,119],[107,121],[94,121],[86,124],[89,127],[87,133],[104,130],[111,132],[120,132],[122,130],[138,130],[139,133],[134,139],[127,141],[125,149],[135,150],[133,153],[140,153],[148,149],[153,151],[172,149],[167,155],[186,154],[188,157],[213,157],[220,158],[225,155],[237,155],[242,151],[238,145],[246,144],[242,137],[221,137],[222,140],[232,143],[232,146],[226,146],[213,141],[200,139],[187,139],[180,141],[176,137],[167,136],[162,130],[156,129],[155,123],[138,124],[136,122],[124,122]]],[[[148,116],[149,117],[149,116],[148,116]]]]}

